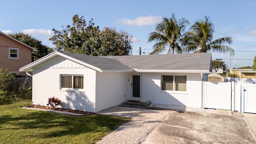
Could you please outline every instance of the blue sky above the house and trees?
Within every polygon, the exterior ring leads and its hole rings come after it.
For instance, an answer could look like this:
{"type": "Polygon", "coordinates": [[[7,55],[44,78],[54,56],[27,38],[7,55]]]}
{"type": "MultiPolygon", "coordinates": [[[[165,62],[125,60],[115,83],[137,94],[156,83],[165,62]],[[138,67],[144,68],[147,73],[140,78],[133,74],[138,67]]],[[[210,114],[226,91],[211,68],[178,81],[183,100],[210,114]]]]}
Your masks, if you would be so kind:
{"type": "MultiPolygon", "coordinates": [[[[252,66],[256,56],[255,0],[0,0],[0,5],[0,31],[24,32],[50,47],[54,47],[48,40],[52,28],[72,25],[72,17],[78,14],[86,22],[93,18],[100,29],[107,26],[127,31],[133,36],[132,54],[137,55],[139,47],[148,54],[154,44],[147,43],[148,34],[163,16],[170,18],[174,13],[177,19],[188,19],[190,25],[210,16],[214,39],[233,39],[232,68],[252,66]]],[[[223,59],[230,67],[229,54],[212,53],[212,58],[223,59]]]]}

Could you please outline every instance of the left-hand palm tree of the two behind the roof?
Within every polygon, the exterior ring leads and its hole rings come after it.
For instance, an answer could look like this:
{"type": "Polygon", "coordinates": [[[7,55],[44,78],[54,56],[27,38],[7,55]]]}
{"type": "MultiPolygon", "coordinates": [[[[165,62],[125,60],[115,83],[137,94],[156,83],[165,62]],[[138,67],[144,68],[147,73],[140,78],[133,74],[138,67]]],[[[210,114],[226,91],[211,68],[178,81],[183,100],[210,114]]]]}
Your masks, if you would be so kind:
{"type": "Polygon", "coordinates": [[[178,43],[185,31],[186,24],[189,24],[187,19],[176,20],[175,14],[172,14],[171,18],[164,17],[163,21],[156,25],[155,32],[149,34],[148,42],[156,41],[152,47],[154,51],[150,54],[159,54],[165,50],[166,46],[169,46],[167,54],[171,49],[172,54],[174,54],[174,50],[180,52],[181,48],[178,43]]]}

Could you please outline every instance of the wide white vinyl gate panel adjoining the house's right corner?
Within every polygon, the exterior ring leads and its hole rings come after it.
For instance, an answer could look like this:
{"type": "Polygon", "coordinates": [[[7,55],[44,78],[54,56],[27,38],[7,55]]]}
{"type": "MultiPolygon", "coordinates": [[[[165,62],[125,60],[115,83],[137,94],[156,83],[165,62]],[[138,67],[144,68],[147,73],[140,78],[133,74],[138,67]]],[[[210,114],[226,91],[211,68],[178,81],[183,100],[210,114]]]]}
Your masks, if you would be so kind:
{"type": "Polygon", "coordinates": [[[203,82],[204,108],[231,110],[231,82],[203,82]]]}

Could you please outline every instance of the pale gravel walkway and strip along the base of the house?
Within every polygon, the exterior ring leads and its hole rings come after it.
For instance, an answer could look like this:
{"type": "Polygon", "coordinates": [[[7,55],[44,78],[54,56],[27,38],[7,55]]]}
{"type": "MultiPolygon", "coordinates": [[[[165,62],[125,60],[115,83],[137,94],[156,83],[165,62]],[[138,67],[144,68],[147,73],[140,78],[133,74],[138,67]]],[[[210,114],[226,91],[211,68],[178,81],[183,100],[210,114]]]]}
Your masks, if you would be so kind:
{"type": "MultiPolygon", "coordinates": [[[[162,104],[150,104],[151,107],[166,108],[176,111],[192,111],[215,113],[214,109],[193,108],[188,106],[173,106],[162,104]]],[[[121,116],[132,118],[114,132],[106,135],[97,144],[141,144],[152,130],[154,130],[170,110],[149,110],[142,108],[114,106],[98,112],[98,114],[121,116]]]]}

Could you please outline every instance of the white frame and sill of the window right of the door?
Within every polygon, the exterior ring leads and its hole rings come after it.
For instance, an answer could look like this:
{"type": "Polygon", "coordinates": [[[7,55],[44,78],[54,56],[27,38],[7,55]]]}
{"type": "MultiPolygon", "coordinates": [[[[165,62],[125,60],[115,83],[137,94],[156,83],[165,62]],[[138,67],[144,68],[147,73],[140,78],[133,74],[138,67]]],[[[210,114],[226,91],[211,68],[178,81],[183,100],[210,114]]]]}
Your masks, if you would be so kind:
{"type": "Polygon", "coordinates": [[[161,75],[161,79],[160,79],[160,83],[161,83],[161,92],[164,92],[164,93],[173,93],[173,94],[188,94],[187,93],[187,81],[188,81],[188,76],[187,75],[181,75],[181,74],[172,74],[172,75],[169,75],[169,74],[162,74],[161,75]],[[173,77],[173,86],[172,86],[172,89],[173,90],[162,90],[162,85],[163,85],[163,76],[172,76],[173,77]],[[175,76],[186,76],[186,91],[178,91],[178,90],[175,90],[175,76]]]}

